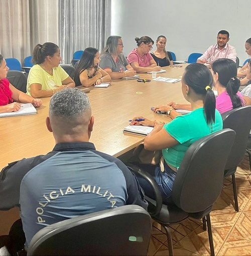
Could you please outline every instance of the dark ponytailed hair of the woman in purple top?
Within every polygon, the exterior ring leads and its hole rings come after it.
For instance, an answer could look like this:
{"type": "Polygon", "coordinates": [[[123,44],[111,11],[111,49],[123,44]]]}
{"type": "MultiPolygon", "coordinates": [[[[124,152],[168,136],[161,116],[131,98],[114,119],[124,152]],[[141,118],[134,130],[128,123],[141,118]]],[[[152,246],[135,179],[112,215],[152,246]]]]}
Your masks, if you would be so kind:
{"type": "Polygon", "coordinates": [[[218,73],[219,83],[226,88],[233,108],[243,105],[240,97],[236,94],[239,90],[240,81],[236,78],[237,67],[236,63],[229,58],[219,58],[212,63],[214,74],[218,73]]]}

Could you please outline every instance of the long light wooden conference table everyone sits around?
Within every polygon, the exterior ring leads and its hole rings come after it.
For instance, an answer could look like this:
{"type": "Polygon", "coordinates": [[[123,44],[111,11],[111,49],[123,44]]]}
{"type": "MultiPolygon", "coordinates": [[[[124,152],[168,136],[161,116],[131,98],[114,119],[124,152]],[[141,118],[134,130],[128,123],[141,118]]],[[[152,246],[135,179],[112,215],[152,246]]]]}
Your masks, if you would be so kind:
{"type": "MultiPolygon", "coordinates": [[[[184,69],[163,68],[167,72],[157,76],[181,78],[184,69]]],[[[143,79],[151,79],[151,74],[139,74],[143,79]]],[[[152,106],[170,101],[185,103],[181,92],[181,82],[174,84],[137,80],[113,80],[108,88],[94,88],[87,94],[94,116],[94,129],[90,142],[97,150],[112,156],[120,156],[144,141],[144,137],[123,134],[122,129],[129,125],[135,116],[144,116],[151,120],[170,121],[166,115],[151,111],[152,106]]],[[[43,105],[36,115],[6,117],[0,119],[0,170],[13,161],[50,152],[55,141],[52,133],[46,129],[50,98],[43,98],[43,105]]],[[[17,209],[0,211],[0,235],[6,234],[18,218],[17,209]],[[6,218],[8,216],[8,218],[6,218]],[[8,223],[9,220],[9,223],[8,223]],[[7,222],[7,223],[6,223],[7,222]],[[8,228],[9,227],[9,228],[8,228]]]]}

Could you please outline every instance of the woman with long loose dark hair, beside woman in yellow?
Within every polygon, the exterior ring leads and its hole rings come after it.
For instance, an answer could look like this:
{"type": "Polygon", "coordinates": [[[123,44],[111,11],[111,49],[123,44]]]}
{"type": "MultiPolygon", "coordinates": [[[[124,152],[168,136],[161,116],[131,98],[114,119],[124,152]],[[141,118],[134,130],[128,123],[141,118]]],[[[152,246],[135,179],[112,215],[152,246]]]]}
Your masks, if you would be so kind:
{"type": "Polygon", "coordinates": [[[89,87],[102,82],[110,82],[110,76],[98,64],[100,61],[98,49],[88,47],[84,50],[73,76],[76,86],[89,87]]]}

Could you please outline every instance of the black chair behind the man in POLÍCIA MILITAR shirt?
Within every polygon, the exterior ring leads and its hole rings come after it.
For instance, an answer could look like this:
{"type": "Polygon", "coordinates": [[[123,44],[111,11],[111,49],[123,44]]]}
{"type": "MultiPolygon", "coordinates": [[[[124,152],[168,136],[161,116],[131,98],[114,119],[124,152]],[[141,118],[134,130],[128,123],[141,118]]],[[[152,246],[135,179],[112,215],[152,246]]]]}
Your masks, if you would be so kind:
{"type": "Polygon", "coordinates": [[[121,206],[41,229],[27,255],[147,255],[151,228],[142,207],[121,206]]]}

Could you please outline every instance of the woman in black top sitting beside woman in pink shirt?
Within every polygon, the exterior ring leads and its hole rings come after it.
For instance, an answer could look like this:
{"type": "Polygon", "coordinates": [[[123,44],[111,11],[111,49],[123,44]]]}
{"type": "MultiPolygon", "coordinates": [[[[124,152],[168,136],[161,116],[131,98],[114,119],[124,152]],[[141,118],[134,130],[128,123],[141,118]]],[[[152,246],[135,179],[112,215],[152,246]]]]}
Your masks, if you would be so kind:
{"type": "Polygon", "coordinates": [[[156,40],[157,49],[151,53],[157,65],[160,67],[173,66],[173,57],[169,51],[166,50],[167,38],[165,36],[158,36],[156,40]]]}

